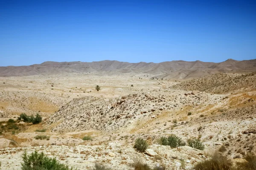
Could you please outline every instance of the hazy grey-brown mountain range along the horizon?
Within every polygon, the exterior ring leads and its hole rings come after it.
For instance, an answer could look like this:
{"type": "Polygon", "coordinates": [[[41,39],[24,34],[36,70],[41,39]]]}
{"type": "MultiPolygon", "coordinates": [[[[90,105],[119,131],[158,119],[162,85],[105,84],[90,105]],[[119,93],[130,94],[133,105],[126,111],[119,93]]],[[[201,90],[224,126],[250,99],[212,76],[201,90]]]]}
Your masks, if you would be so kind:
{"type": "Polygon", "coordinates": [[[256,59],[224,62],[171,61],[171,62],[119,62],[104,60],[99,62],[43,62],[29,66],[0,67],[0,77],[53,75],[68,73],[94,74],[148,74],[168,79],[191,79],[217,73],[248,73],[256,71],[256,59]]]}

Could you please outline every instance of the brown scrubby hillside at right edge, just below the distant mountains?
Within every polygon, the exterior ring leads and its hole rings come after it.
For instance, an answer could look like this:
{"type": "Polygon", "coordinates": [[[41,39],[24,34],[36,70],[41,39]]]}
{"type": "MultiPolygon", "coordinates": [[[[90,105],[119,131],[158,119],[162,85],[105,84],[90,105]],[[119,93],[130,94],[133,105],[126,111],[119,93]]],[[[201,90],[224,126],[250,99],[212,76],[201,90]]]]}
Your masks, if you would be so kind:
{"type": "Polygon", "coordinates": [[[186,91],[204,91],[207,93],[224,94],[235,90],[255,90],[256,72],[250,74],[214,74],[192,79],[172,88],[186,91]]]}

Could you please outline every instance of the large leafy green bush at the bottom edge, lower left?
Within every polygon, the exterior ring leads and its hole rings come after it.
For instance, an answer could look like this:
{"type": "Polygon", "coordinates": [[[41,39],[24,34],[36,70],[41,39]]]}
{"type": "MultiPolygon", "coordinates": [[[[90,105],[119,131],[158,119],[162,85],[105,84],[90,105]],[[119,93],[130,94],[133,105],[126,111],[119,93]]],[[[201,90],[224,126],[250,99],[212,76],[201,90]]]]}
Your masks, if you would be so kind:
{"type": "Polygon", "coordinates": [[[25,152],[22,156],[21,170],[73,170],[67,165],[61,164],[55,158],[49,158],[44,153],[37,151],[27,155],[25,152]]]}

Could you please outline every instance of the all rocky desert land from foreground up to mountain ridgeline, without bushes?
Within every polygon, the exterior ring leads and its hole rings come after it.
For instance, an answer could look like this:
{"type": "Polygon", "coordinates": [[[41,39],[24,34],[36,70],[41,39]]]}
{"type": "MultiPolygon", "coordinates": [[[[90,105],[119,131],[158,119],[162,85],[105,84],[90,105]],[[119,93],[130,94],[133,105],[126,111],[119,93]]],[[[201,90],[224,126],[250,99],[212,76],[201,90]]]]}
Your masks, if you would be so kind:
{"type": "Polygon", "coordinates": [[[132,170],[137,160],[192,170],[215,151],[236,166],[256,153],[255,71],[256,60],[232,59],[0,67],[0,168],[20,170],[25,150],[79,170],[132,170]],[[18,120],[21,113],[39,113],[42,122],[18,120]],[[185,145],[160,142],[172,135],[185,145]],[[145,152],[134,148],[138,138],[148,143],[145,152]],[[192,139],[204,149],[189,146],[192,139]]]}

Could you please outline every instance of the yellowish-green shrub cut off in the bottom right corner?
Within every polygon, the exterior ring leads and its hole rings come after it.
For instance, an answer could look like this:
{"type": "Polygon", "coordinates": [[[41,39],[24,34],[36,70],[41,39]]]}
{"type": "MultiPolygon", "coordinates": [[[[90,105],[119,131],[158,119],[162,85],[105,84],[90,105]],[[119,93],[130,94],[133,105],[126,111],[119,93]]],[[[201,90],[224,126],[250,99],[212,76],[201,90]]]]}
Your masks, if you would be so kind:
{"type": "Polygon", "coordinates": [[[256,155],[248,154],[244,159],[246,161],[237,163],[237,170],[256,170],[256,155]]]}

